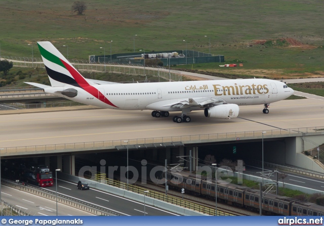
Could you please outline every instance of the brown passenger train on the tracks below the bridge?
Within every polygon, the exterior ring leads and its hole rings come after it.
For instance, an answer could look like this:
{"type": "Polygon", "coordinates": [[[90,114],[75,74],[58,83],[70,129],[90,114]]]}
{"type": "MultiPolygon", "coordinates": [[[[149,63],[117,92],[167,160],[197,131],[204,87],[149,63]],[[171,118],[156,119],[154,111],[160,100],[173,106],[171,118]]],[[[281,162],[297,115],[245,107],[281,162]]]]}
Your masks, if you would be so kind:
{"type": "MultiPolygon", "coordinates": [[[[206,176],[197,177],[187,170],[168,171],[169,188],[185,189],[189,193],[215,199],[215,179],[206,176]]],[[[224,183],[217,180],[217,200],[225,203],[260,211],[260,190],[224,183]]],[[[285,216],[322,216],[324,206],[272,193],[262,194],[262,212],[285,216]]]]}

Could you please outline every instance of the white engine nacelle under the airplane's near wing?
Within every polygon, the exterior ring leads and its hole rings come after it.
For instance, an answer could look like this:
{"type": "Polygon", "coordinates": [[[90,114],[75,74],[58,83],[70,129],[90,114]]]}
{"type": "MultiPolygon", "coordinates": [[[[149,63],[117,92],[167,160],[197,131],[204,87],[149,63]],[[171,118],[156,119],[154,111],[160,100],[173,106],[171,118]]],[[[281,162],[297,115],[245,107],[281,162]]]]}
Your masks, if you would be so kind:
{"type": "Polygon", "coordinates": [[[223,104],[205,108],[205,116],[211,118],[237,118],[239,107],[236,104],[223,104]]]}

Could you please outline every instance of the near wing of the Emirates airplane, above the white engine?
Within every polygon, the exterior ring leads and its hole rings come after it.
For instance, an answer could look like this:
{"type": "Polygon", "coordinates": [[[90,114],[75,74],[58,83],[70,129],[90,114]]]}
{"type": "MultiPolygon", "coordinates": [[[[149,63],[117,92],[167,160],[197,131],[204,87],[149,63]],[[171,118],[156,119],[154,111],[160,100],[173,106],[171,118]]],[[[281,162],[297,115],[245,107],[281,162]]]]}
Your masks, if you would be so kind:
{"type": "Polygon", "coordinates": [[[208,97],[208,98],[200,98],[200,99],[189,98],[187,100],[172,103],[167,106],[171,106],[173,108],[204,107],[204,105],[207,105],[207,104],[217,104],[217,103],[221,103],[221,102],[225,102],[225,101],[223,99],[217,98],[217,97],[208,97]]]}

